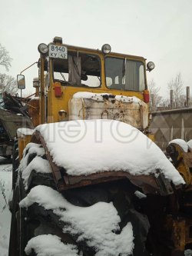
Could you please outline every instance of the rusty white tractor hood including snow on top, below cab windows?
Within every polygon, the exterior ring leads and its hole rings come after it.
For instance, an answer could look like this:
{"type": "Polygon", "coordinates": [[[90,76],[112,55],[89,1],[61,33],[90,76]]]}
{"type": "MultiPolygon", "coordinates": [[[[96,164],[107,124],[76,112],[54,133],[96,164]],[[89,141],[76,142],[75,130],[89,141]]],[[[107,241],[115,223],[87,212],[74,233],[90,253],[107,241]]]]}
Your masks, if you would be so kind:
{"type": "Polygon", "coordinates": [[[148,107],[136,97],[78,92],[69,101],[69,120],[112,119],[139,130],[148,126],[148,107]]]}

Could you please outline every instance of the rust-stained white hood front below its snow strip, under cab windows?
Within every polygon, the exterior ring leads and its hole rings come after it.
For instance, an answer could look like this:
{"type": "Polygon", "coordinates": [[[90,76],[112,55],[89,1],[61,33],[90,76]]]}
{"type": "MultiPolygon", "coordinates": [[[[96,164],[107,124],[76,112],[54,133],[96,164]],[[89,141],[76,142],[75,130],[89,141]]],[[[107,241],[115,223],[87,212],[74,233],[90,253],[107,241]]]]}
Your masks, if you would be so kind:
{"type": "Polygon", "coordinates": [[[148,108],[143,101],[122,102],[115,99],[95,101],[88,98],[71,98],[69,120],[112,119],[143,130],[148,125],[148,108]]]}

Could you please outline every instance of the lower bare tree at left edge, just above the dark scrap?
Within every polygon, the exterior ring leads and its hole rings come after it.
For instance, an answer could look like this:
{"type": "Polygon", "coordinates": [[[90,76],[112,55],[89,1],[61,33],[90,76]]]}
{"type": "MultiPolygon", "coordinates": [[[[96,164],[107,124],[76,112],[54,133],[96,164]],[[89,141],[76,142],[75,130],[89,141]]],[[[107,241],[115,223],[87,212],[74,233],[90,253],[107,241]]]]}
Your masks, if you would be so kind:
{"type": "Polygon", "coordinates": [[[0,74],[0,95],[6,91],[11,95],[15,95],[18,91],[17,82],[11,75],[0,74]]]}

